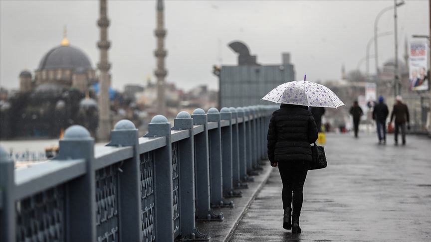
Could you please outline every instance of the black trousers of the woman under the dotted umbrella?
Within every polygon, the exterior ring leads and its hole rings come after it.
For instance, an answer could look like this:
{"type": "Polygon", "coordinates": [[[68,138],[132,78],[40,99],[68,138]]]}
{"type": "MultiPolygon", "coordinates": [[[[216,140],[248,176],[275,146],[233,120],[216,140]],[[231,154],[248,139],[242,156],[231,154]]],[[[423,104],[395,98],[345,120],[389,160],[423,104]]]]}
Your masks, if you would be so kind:
{"type": "Polygon", "coordinates": [[[280,161],[278,162],[283,191],[283,209],[289,208],[292,204],[292,215],[299,217],[302,208],[302,189],[307,177],[307,167],[303,161],[280,161]]]}

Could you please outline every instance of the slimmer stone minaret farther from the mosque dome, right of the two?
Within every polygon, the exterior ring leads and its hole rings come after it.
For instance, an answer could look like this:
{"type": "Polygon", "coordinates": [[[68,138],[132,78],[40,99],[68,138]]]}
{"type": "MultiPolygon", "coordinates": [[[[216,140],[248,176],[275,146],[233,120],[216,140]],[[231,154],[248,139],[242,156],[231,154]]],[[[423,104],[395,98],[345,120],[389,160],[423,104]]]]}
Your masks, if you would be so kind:
{"type": "Polygon", "coordinates": [[[157,49],[154,56],[157,59],[157,69],[154,75],[157,77],[157,109],[161,115],[166,116],[166,99],[165,99],[165,77],[168,72],[165,69],[165,57],[167,51],[164,49],[166,29],[163,21],[163,0],[157,0],[157,28],[154,34],[157,37],[157,49]]]}

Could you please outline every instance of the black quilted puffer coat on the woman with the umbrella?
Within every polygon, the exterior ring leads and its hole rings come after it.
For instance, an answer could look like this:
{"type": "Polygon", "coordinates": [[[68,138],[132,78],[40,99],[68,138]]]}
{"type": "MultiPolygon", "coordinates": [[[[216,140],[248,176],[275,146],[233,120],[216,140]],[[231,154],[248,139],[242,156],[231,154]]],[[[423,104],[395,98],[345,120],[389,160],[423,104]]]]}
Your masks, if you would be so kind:
{"type": "Polygon", "coordinates": [[[269,161],[311,161],[310,144],[317,136],[316,122],[306,106],[282,104],[269,122],[269,161]]]}

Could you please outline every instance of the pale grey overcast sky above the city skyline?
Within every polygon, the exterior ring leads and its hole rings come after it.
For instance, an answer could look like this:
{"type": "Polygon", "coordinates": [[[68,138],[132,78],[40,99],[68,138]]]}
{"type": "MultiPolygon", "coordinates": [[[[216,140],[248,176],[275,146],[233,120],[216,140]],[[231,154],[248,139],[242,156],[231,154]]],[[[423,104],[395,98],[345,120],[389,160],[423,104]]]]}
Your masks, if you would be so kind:
{"type": "MultiPolygon", "coordinates": [[[[373,37],[378,12],[393,1],[165,1],[167,80],[190,89],[198,84],[217,88],[212,66],[236,64],[227,44],[244,41],[261,64],[281,63],[290,52],[296,78],[340,78],[341,66],[356,69],[373,37]],[[221,53],[221,54],[220,54],[221,53]]],[[[95,68],[98,1],[0,1],[0,81],[17,88],[23,69],[34,71],[43,55],[60,44],[67,25],[71,45],[83,50],[95,68]]],[[[427,0],[407,1],[398,8],[399,56],[404,39],[429,34],[427,0]]],[[[112,85],[145,84],[155,68],[153,51],[155,1],[109,1],[109,61],[112,85]]],[[[382,15],[379,31],[393,31],[393,11],[382,15]]],[[[371,54],[374,49],[371,49],[371,54]]],[[[379,62],[394,56],[394,36],[379,38],[379,62]]],[[[361,65],[365,71],[365,62],[361,65]]],[[[370,70],[375,71],[374,61],[370,70]]],[[[153,77],[154,80],[154,77],[153,77]]],[[[286,80],[289,81],[289,80],[286,80]]]]}

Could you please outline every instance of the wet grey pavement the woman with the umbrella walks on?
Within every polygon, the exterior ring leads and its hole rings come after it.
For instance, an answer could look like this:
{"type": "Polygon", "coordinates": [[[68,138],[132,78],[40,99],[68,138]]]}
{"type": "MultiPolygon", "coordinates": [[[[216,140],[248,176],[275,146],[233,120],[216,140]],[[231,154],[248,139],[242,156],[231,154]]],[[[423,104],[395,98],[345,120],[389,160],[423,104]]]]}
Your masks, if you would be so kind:
{"type": "Polygon", "coordinates": [[[406,146],[378,145],[375,134],[358,139],[328,134],[328,167],[309,171],[300,225],[282,225],[281,179],[273,168],[250,203],[231,242],[431,241],[431,139],[407,136],[406,146]]]}

